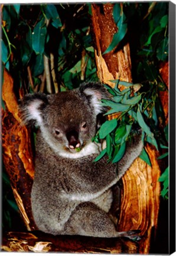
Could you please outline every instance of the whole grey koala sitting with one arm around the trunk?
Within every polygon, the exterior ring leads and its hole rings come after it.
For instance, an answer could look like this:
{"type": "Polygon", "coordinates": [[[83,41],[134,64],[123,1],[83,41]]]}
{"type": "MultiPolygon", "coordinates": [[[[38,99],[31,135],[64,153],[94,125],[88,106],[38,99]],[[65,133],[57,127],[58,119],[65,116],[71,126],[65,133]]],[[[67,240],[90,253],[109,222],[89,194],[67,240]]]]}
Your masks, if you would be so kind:
{"type": "Polygon", "coordinates": [[[19,108],[25,124],[38,126],[32,214],[40,231],[53,235],[130,236],[118,232],[109,216],[112,187],[139,156],[143,145],[136,136],[118,164],[107,157],[93,162],[101,151],[92,142],[97,117],[110,95],[100,83],[87,82],[58,94],[28,94],[19,108]]]}

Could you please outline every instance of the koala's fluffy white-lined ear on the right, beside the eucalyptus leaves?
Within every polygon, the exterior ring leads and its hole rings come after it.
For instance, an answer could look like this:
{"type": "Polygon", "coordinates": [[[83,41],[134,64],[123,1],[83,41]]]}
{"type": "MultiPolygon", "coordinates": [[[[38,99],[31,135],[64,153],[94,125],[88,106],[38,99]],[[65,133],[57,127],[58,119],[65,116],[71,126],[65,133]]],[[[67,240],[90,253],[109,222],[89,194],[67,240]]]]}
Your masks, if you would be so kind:
{"type": "Polygon", "coordinates": [[[94,107],[95,114],[103,113],[107,110],[101,105],[102,99],[110,99],[112,96],[107,92],[103,84],[99,82],[84,82],[80,85],[80,92],[90,98],[90,103],[94,107]]]}

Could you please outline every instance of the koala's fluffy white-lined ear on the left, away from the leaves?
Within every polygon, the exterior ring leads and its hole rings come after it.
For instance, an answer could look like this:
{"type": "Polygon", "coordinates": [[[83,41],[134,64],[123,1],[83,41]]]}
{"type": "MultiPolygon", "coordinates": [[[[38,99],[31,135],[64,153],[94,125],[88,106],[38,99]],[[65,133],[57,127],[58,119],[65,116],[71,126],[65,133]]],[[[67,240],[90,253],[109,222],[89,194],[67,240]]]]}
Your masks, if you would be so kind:
{"type": "Polygon", "coordinates": [[[47,95],[42,93],[27,94],[19,101],[19,111],[22,121],[28,124],[31,121],[40,126],[42,123],[41,110],[48,104],[47,95]]]}

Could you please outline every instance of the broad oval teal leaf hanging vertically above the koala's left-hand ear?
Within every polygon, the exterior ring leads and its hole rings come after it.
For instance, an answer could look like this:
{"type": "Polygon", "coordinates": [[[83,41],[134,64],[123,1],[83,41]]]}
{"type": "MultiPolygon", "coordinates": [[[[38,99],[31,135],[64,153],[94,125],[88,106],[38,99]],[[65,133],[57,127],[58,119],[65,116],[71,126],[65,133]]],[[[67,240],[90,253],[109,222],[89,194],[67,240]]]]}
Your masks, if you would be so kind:
{"type": "Polygon", "coordinates": [[[45,38],[47,36],[47,27],[44,23],[44,18],[37,23],[32,33],[32,49],[36,54],[44,53],[45,38]]]}

